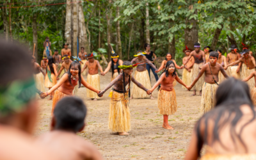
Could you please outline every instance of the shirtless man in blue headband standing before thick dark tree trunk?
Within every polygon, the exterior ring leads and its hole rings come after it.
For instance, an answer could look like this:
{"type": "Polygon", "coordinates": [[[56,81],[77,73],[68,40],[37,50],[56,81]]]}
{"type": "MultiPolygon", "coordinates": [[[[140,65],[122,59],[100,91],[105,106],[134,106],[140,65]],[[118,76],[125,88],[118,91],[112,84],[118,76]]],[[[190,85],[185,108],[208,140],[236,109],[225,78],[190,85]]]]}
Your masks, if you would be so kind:
{"type": "MultiPolygon", "coordinates": [[[[200,50],[200,44],[196,42],[194,44],[195,51],[192,51],[187,60],[183,63],[182,67],[188,63],[190,58],[193,56],[195,58],[195,63],[193,65],[193,70],[192,70],[192,81],[196,79],[196,76],[198,76],[198,73],[200,72],[200,69],[202,65],[205,64],[205,54],[204,51],[200,50]]],[[[202,95],[202,86],[204,84],[204,76],[200,76],[200,79],[198,79],[197,83],[195,84],[193,88],[193,94],[191,96],[196,95],[196,90],[200,91],[200,96],[202,95]]]]}

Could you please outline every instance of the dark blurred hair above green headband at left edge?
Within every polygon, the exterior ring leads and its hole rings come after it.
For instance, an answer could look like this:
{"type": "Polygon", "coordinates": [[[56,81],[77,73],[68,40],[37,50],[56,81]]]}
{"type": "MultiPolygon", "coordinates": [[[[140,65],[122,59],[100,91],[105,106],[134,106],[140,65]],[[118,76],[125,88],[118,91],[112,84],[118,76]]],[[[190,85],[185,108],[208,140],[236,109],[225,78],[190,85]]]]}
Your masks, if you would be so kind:
{"type": "Polygon", "coordinates": [[[0,67],[2,68],[0,86],[6,86],[12,83],[12,81],[26,80],[33,76],[31,60],[35,60],[35,58],[23,46],[14,40],[11,43],[0,38],[0,67]]]}

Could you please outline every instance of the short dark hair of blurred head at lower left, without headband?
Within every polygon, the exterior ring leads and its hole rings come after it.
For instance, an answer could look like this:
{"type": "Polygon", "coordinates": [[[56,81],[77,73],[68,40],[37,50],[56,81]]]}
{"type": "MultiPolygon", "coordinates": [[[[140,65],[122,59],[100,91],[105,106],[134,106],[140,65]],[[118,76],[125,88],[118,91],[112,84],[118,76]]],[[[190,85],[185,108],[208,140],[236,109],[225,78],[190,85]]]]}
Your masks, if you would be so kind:
{"type": "Polygon", "coordinates": [[[84,126],[86,106],[78,97],[64,97],[54,109],[56,125],[54,129],[72,130],[78,132],[84,126]]]}

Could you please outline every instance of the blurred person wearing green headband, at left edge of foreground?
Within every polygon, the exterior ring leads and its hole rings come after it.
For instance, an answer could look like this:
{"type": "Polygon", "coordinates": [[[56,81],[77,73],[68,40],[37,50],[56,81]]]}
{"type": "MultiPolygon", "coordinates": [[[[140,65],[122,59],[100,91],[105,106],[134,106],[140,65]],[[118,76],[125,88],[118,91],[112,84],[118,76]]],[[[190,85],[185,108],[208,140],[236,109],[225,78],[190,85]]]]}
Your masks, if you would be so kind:
{"type": "Polygon", "coordinates": [[[56,159],[31,136],[37,111],[31,55],[2,39],[0,48],[0,159],[56,159]]]}

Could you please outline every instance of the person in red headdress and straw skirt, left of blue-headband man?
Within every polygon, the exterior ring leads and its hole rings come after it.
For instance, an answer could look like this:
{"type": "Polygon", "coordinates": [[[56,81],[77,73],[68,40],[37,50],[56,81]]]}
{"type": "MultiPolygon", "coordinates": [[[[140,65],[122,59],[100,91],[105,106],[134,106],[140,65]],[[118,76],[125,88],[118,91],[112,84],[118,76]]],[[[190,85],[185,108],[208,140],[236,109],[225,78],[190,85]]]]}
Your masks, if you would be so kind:
{"type": "MultiPolygon", "coordinates": [[[[185,63],[191,51],[192,49],[189,49],[187,46],[185,49],[183,49],[183,52],[186,54],[186,56],[182,59],[182,63],[185,63]]],[[[182,81],[186,85],[189,85],[192,83],[191,77],[192,77],[192,70],[193,70],[194,63],[195,63],[195,58],[191,57],[188,63],[184,66],[184,69],[182,72],[182,81]]],[[[185,86],[182,86],[182,88],[187,89],[185,86]]]]}

